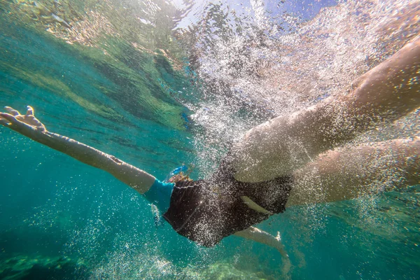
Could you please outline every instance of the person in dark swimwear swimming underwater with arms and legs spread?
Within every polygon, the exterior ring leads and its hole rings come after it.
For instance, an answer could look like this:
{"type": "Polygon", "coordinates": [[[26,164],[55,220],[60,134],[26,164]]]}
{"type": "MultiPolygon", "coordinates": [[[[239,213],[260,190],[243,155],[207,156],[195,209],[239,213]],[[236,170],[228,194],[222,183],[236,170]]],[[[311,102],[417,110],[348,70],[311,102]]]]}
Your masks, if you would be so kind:
{"type": "Polygon", "coordinates": [[[30,106],[26,115],[5,107],[8,113],[0,113],[0,123],[109,172],[157,205],[176,232],[198,244],[214,246],[224,237],[237,235],[284,254],[279,237],[252,225],[293,205],[358,197],[363,186],[380,178],[381,169],[365,170],[378,159],[404,178],[393,182],[393,187],[419,183],[419,137],[334,150],[379,121],[396,120],[418,109],[419,76],[420,38],[416,37],[360,76],[351,92],[249,130],[214,175],[199,181],[183,176],[172,183],[159,181],[113,155],[49,132],[30,106]],[[315,178],[321,188],[308,191],[315,178]]]}

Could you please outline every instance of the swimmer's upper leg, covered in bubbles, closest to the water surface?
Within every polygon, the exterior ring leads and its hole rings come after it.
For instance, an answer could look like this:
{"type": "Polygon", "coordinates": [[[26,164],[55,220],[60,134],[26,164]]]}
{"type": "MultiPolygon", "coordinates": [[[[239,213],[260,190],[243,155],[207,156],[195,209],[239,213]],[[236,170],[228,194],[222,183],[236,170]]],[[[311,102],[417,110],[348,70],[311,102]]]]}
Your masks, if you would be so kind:
{"type": "Polygon", "coordinates": [[[381,120],[420,106],[420,37],[353,83],[349,94],[269,120],[232,148],[239,181],[292,174],[318,154],[342,145],[381,120]]]}

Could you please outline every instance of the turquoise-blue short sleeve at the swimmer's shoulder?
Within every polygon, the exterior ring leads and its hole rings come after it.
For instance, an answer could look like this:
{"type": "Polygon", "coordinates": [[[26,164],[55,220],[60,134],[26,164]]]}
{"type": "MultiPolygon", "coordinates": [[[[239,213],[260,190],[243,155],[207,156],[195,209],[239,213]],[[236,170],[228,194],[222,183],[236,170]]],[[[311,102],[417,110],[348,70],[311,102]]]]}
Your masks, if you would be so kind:
{"type": "Polygon", "coordinates": [[[165,213],[169,209],[174,186],[174,183],[164,183],[156,179],[151,188],[144,193],[144,197],[149,202],[155,204],[161,213],[165,213]]]}

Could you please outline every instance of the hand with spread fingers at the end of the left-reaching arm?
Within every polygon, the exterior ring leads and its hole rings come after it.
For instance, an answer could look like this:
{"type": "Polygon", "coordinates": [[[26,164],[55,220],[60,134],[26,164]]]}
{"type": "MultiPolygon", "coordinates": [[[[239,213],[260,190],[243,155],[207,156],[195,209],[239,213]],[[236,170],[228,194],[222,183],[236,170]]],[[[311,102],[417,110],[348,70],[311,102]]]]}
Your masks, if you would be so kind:
{"type": "Polygon", "coordinates": [[[4,107],[9,113],[0,112],[0,125],[9,127],[17,132],[24,132],[29,127],[35,129],[38,132],[46,132],[45,125],[43,125],[34,116],[34,109],[31,106],[27,106],[26,115],[21,115],[19,111],[11,107],[4,107]]]}

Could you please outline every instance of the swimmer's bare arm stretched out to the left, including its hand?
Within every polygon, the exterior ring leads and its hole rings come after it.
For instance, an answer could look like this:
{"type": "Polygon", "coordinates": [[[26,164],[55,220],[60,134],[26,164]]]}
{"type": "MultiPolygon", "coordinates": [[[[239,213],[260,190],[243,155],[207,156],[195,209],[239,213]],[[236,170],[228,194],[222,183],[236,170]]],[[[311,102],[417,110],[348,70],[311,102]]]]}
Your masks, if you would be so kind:
{"type": "Polygon", "coordinates": [[[15,109],[5,107],[9,113],[0,113],[0,124],[19,132],[45,146],[70,155],[92,167],[109,172],[116,179],[126,183],[139,193],[146,193],[155,183],[155,177],[137,167],[127,164],[113,155],[108,155],[95,148],[59,134],[48,132],[45,126],[35,118],[34,109],[28,106],[26,115],[15,109]]]}

